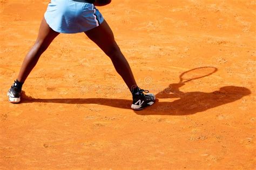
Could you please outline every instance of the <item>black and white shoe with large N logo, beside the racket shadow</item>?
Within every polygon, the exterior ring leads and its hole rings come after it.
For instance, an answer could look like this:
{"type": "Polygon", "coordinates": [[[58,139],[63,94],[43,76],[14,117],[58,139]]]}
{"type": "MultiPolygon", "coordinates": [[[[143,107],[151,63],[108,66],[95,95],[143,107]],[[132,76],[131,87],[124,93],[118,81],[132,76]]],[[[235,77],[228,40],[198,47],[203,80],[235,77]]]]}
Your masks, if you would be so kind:
{"type": "Polygon", "coordinates": [[[132,94],[132,106],[133,110],[142,110],[147,106],[151,106],[154,104],[156,97],[154,94],[149,93],[148,90],[143,90],[138,88],[138,92],[136,94],[132,94]],[[143,92],[147,93],[144,94],[143,92]]]}

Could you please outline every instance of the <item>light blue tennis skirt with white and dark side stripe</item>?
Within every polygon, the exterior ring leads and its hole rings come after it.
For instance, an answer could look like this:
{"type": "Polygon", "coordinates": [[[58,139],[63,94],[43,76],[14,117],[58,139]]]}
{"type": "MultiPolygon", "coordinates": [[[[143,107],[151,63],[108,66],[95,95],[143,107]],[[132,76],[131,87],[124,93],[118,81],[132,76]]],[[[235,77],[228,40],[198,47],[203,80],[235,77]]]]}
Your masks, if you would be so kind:
{"type": "Polygon", "coordinates": [[[104,21],[93,4],[72,0],[51,0],[44,18],[52,30],[61,33],[88,31],[104,21]]]}

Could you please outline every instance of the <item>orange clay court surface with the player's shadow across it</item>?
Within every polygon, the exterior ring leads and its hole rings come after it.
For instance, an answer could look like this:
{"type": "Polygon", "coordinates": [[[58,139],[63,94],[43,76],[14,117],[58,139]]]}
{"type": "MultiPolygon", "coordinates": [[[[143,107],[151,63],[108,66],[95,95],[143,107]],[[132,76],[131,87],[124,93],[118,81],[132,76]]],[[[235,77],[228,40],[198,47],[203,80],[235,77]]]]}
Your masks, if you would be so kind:
{"type": "Polygon", "coordinates": [[[0,1],[0,169],[256,168],[255,1],[98,7],[138,85],[156,94],[142,111],[84,33],[53,40],[21,104],[8,102],[48,3],[0,1]],[[179,83],[188,70],[205,76],[179,83]]]}

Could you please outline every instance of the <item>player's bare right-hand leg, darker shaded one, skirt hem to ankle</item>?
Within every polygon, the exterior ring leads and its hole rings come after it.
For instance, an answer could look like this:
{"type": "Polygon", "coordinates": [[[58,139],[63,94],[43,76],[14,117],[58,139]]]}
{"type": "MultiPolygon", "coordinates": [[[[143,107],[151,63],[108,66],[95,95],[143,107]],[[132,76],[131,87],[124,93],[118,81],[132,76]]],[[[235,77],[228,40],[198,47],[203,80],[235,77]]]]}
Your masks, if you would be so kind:
{"type": "Polygon", "coordinates": [[[114,68],[123,78],[130,91],[137,87],[130,65],[120,51],[119,46],[114,40],[113,32],[106,21],[96,28],[86,31],[85,34],[110,57],[114,68]]]}

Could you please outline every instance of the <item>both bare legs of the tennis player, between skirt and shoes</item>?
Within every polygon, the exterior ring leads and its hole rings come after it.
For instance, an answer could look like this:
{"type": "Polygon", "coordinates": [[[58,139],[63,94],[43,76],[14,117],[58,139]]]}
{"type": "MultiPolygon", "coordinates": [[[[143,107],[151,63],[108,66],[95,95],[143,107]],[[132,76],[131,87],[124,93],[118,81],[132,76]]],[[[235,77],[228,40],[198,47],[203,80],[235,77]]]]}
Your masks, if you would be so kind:
{"type": "MultiPolygon", "coordinates": [[[[106,53],[107,56],[111,58],[115,69],[124,79],[129,89],[132,90],[133,87],[136,87],[137,84],[133,77],[130,65],[125,59],[123,53],[120,51],[116,41],[114,40],[113,32],[106,21],[85,33],[106,53]]],[[[48,48],[52,40],[58,35],[59,32],[53,31],[43,18],[36,43],[26,55],[21,70],[19,71],[17,78],[19,82],[24,83],[33,67],[37,64],[39,57],[48,48]]]]}

